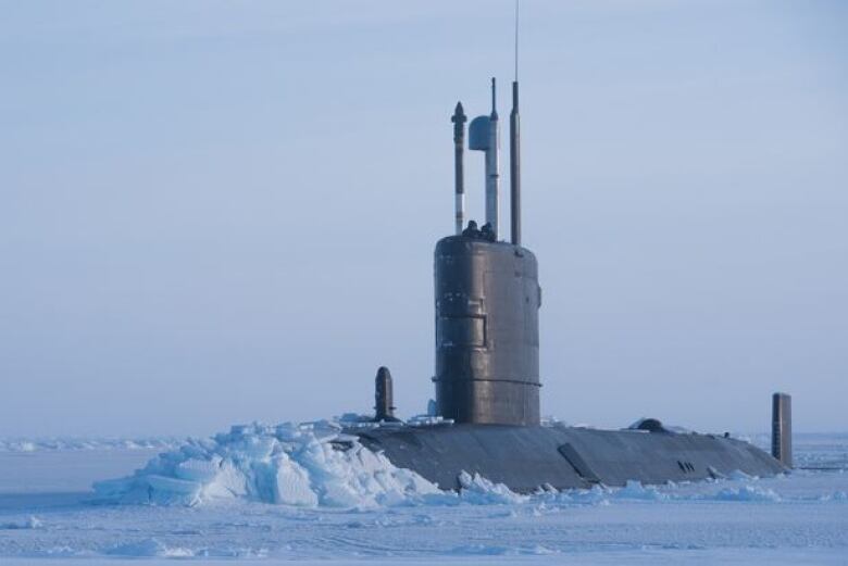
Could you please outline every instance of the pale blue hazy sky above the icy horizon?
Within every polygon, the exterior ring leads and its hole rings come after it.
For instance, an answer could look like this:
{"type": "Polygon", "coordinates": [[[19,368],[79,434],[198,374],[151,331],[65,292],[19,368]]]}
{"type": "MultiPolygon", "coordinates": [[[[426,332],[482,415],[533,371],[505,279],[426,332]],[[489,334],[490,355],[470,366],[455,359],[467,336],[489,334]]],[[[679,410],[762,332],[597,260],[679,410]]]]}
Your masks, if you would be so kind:
{"type": "MultiPolygon", "coordinates": [[[[0,8],[0,436],[424,411],[511,0],[0,8]]],[[[522,12],[543,412],[848,428],[848,3],[522,12]]]]}

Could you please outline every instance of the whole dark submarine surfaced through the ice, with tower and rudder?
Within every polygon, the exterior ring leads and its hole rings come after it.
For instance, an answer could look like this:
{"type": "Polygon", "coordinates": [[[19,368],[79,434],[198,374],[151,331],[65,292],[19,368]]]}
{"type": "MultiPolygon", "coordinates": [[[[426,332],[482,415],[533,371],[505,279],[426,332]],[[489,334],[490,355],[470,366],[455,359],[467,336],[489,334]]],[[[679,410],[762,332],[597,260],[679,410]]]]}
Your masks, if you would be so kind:
{"type": "MultiPolygon", "coordinates": [[[[444,490],[478,474],[526,493],[694,481],[735,471],[773,476],[791,468],[790,398],[775,393],[772,453],[729,435],[698,433],[645,418],[620,430],[544,423],[539,397],[538,261],[521,241],[521,148],[517,73],[510,113],[510,239],[500,239],[500,125],[491,112],[469,124],[467,144],[485,154],[485,223],[465,224],[465,123],[453,115],[456,231],[434,253],[435,406],[428,418],[395,416],[389,370],[376,376],[375,416],[344,431],[394,465],[444,490]]],[[[431,402],[433,405],[433,402],[431,402]]],[[[338,450],[349,449],[344,443],[338,450]]]]}

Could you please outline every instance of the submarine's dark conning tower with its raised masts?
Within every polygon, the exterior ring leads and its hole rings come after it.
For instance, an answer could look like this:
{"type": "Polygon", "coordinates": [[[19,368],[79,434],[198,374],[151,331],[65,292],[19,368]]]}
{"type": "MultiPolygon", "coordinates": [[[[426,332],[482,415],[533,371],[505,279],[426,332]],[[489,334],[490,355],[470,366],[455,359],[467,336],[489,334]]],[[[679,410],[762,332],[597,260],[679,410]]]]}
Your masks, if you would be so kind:
{"type": "MultiPolygon", "coordinates": [[[[457,423],[539,424],[541,289],[536,256],[521,247],[519,85],[510,115],[511,242],[498,239],[499,131],[495,79],[491,114],[470,125],[469,149],[486,155],[486,224],[436,244],[436,406],[457,423]]],[[[462,139],[461,104],[452,122],[462,139]]],[[[457,184],[462,152],[456,151],[457,184]]],[[[458,185],[456,193],[463,193],[458,185]]],[[[457,199],[457,216],[460,204],[457,199]]],[[[464,211],[462,211],[464,213],[464,211]]]]}

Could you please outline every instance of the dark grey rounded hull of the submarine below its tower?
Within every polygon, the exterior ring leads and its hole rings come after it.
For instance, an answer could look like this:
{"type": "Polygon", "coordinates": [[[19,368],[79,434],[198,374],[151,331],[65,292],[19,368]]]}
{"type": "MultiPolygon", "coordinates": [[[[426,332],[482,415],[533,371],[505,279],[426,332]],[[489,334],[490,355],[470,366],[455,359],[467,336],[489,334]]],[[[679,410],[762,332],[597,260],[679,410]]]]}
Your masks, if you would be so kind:
{"type": "Polygon", "coordinates": [[[462,471],[529,492],[546,485],[557,489],[623,486],[627,480],[648,485],[701,480],[735,470],[773,476],[787,469],[747,442],[712,435],[508,425],[348,432],[396,466],[412,469],[445,490],[459,488],[462,471]]]}

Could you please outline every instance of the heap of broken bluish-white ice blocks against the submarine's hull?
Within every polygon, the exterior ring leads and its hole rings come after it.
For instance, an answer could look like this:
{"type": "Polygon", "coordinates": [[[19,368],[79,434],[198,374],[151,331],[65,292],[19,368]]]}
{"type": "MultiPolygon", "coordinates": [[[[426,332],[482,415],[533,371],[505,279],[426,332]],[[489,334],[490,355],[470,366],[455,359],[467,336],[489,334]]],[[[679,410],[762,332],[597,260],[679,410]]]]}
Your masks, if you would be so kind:
{"type": "Polygon", "coordinates": [[[99,481],[99,501],[195,505],[247,499],[298,506],[372,507],[441,494],[332,422],[234,426],[164,452],[133,476],[99,481]]]}

